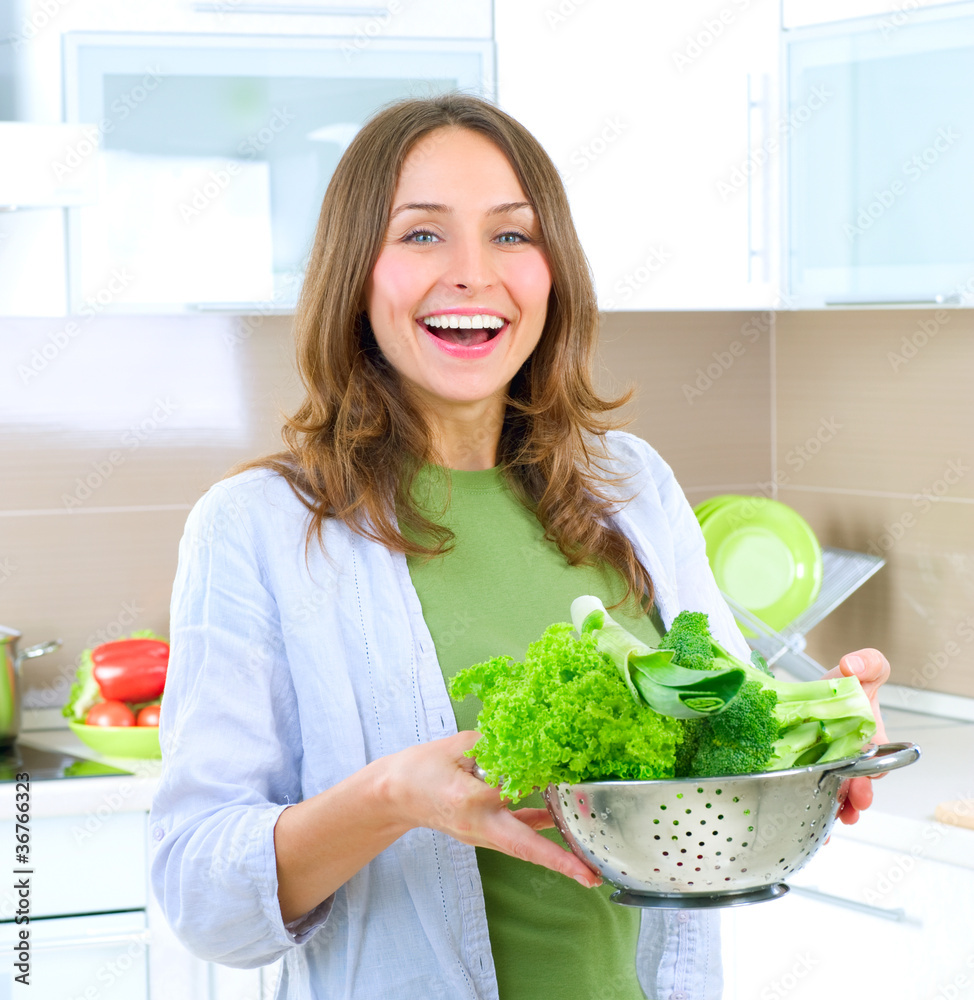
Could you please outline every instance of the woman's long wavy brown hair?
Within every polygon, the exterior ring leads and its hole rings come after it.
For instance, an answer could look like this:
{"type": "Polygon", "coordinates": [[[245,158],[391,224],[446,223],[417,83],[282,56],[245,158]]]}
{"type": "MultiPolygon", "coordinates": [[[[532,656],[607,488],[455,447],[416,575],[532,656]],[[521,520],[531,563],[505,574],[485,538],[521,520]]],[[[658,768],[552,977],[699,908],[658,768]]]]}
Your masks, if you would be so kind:
{"type": "Polygon", "coordinates": [[[605,414],[629,394],[603,399],[592,385],[598,310],[564,187],[527,129],[479,98],[397,102],[345,151],[321,206],[295,315],[306,397],[284,425],[287,450],[244,468],[271,468],[287,479],[311,512],[308,544],[320,542],[334,518],[407,555],[449,548],[451,533],[411,496],[416,470],[435,461],[430,430],[379,350],[362,303],[403,161],[414,150],[433,152],[444,130],[457,128],[479,133],[507,157],[537,215],[552,278],[541,339],[509,390],[498,460],[570,564],[604,561],[622,574],[626,597],[651,601],[649,574],[608,521],[620,484],[599,468],[597,442],[611,426],[605,414]]]}

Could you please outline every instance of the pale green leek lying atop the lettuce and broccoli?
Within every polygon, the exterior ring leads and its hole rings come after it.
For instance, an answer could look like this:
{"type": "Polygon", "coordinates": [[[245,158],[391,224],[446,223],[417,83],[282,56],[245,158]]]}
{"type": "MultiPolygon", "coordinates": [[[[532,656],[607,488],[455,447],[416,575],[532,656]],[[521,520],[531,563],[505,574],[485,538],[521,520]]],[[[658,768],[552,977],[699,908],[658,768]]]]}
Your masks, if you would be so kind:
{"type": "Polygon", "coordinates": [[[633,698],[661,715],[697,719],[722,712],[744,683],[743,670],[688,670],[674,664],[672,651],[650,649],[630,635],[597,597],[577,597],[572,621],[579,635],[591,635],[615,664],[633,698]]]}

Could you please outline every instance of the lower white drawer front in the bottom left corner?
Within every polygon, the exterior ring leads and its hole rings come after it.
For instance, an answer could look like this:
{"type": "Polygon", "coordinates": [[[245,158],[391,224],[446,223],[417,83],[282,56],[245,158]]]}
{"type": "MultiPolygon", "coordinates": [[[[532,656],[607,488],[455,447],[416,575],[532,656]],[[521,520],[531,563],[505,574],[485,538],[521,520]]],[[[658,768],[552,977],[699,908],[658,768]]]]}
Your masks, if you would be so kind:
{"type": "MultiPolygon", "coordinates": [[[[147,1000],[148,932],[145,913],[32,919],[30,969],[24,992],[30,1000],[147,1000]]],[[[0,924],[0,1000],[21,995],[24,974],[15,944],[21,925],[0,924]]]]}

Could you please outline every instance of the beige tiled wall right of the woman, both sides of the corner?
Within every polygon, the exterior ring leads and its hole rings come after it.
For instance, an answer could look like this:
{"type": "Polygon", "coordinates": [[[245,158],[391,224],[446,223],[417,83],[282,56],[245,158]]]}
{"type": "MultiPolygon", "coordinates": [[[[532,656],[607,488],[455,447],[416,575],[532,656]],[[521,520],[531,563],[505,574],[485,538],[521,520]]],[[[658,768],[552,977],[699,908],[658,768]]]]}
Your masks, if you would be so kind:
{"type": "Polygon", "coordinates": [[[789,504],[823,545],[886,565],[808,635],[865,646],[892,680],[974,697],[974,312],[605,317],[609,367],[641,384],[634,429],[693,503],[789,504]]]}

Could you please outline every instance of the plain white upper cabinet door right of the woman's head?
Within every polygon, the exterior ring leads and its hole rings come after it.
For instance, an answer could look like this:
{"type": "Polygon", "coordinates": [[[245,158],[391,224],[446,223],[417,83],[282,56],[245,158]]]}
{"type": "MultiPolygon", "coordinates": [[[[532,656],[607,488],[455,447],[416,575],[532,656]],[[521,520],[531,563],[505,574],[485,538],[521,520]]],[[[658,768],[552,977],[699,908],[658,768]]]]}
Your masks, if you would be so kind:
{"type": "Polygon", "coordinates": [[[528,0],[498,98],[562,173],[603,309],[775,301],[778,10],[528,0]]]}

